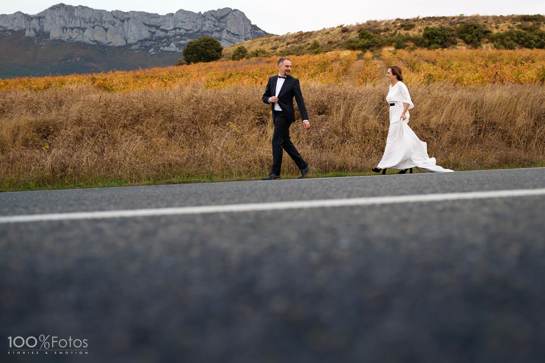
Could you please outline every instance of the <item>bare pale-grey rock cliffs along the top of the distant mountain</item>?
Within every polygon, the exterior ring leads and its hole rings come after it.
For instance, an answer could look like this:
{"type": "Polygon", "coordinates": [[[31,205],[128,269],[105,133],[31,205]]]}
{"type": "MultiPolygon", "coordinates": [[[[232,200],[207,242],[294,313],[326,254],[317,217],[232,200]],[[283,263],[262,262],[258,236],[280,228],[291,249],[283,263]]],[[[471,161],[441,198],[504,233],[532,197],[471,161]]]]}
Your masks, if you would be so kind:
{"type": "Polygon", "coordinates": [[[267,35],[237,9],[223,8],[205,13],[178,10],[166,15],[144,11],[106,11],[84,6],[53,5],[36,15],[0,15],[0,35],[25,31],[25,37],[49,33],[50,40],[91,45],[128,46],[149,55],[181,52],[193,39],[213,37],[222,46],[267,35]]]}

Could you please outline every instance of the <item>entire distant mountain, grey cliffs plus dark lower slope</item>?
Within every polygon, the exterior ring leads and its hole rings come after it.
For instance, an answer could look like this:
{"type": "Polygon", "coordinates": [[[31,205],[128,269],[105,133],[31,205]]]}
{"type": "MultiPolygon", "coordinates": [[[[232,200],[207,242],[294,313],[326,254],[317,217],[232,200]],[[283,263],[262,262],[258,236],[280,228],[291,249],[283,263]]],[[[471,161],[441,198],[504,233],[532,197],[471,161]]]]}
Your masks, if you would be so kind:
{"type": "Polygon", "coordinates": [[[158,15],[58,4],[36,15],[0,15],[0,77],[172,65],[200,37],[228,46],[264,35],[231,8],[158,15]]]}

